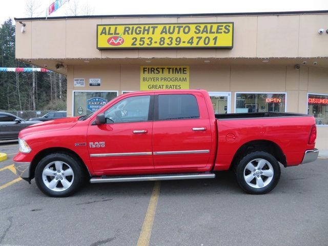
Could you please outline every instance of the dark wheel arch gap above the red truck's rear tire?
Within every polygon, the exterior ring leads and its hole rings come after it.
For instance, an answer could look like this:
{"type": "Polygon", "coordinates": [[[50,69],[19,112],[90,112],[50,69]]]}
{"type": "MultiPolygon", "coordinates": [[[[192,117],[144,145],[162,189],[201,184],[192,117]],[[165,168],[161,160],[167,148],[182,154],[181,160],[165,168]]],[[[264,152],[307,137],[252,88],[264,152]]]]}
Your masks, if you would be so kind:
{"type": "Polygon", "coordinates": [[[239,161],[246,155],[255,151],[265,151],[272,154],[284,167],[287,166],[286,156],[275,142],[271,140],[259,139],[245,142],[236,151],[232,161],[231,168],[235,168],[239,161]]]}

